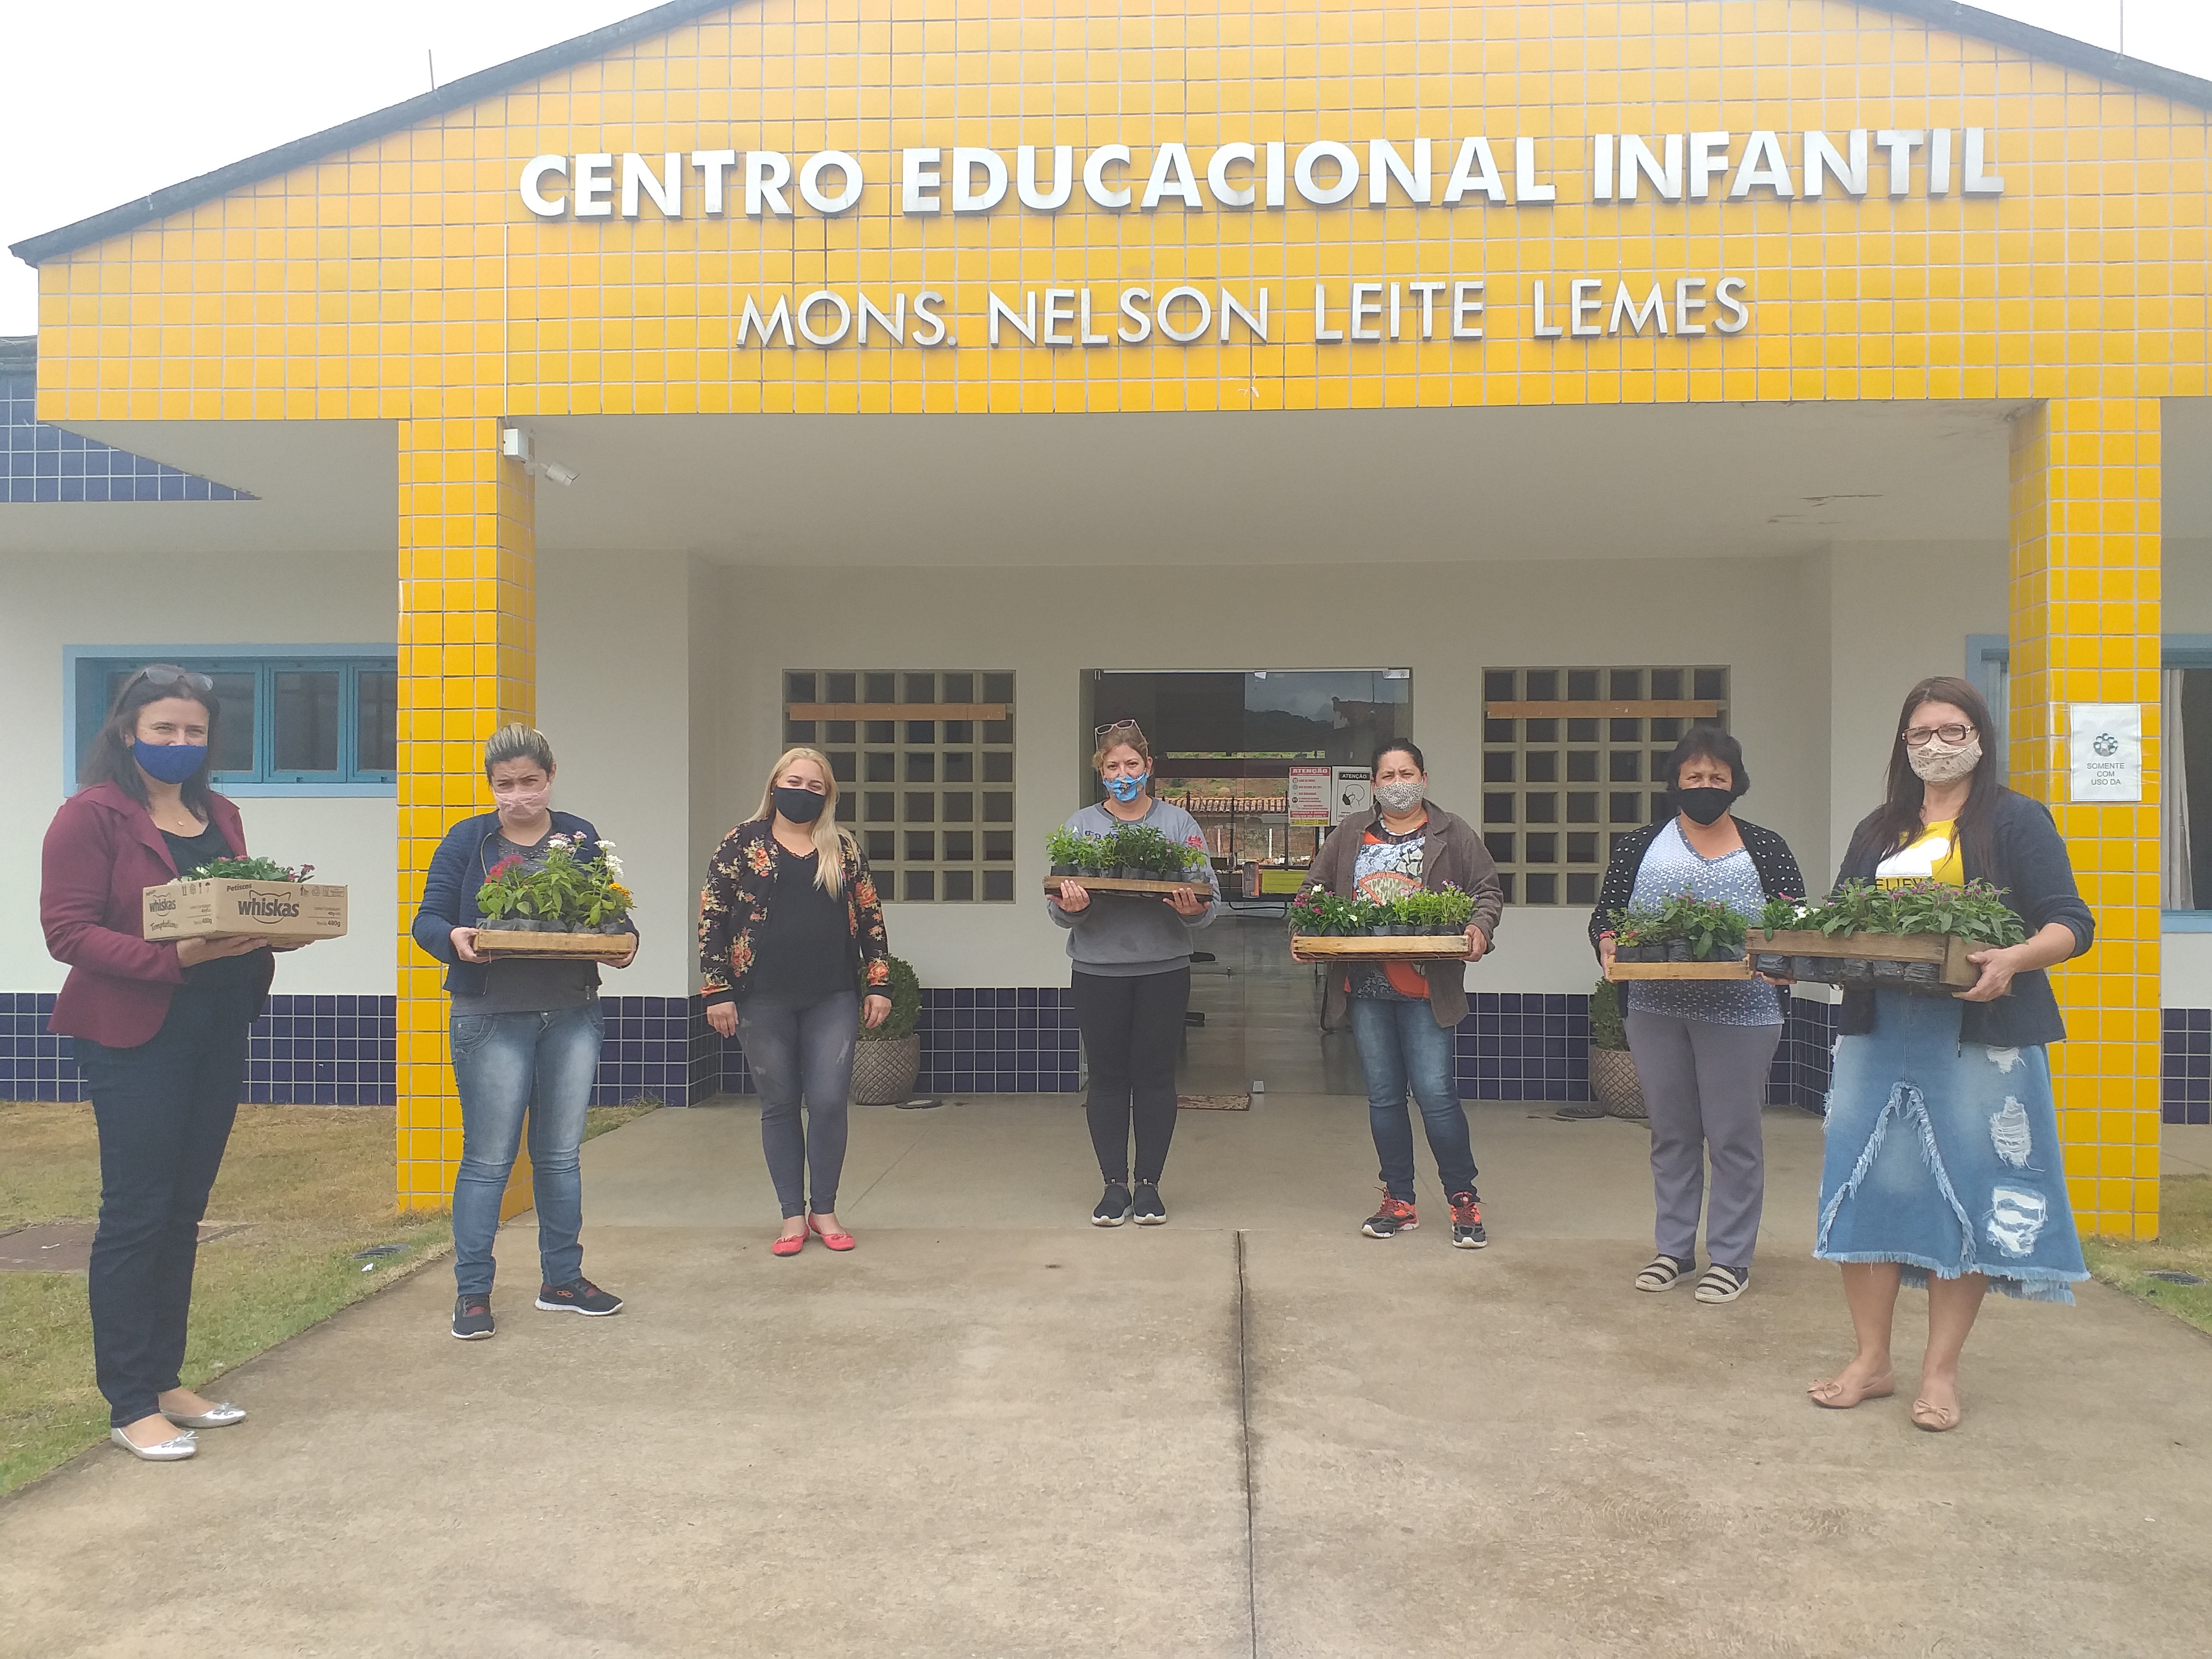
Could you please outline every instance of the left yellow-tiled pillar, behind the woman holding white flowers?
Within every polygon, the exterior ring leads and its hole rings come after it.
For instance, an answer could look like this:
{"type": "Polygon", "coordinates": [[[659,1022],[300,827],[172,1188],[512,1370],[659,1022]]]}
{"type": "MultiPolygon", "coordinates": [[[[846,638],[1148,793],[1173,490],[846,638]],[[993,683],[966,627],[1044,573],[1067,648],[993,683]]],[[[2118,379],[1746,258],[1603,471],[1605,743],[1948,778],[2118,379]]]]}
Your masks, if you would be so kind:
{"type": "MultiPolygon", "coordinates": [[[[484,739],[538,714],[535,493],[500,420],[400,420],[398,1203],[442,1210],[460,1166],[445,969],[407,933],[440,836],[489,805],[484,739]]],[[[531,1206],[529,1155],[502,1214],[531,1206]]]]}

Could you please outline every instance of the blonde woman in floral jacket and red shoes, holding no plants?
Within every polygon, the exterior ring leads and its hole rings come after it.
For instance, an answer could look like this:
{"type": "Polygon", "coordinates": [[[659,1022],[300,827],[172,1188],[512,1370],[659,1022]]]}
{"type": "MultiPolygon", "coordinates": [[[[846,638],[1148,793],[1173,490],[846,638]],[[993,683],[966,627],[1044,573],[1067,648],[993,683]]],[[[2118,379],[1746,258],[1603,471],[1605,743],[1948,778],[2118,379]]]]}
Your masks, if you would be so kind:
{"type": "Polygon", "coordinates": [[[699,971],[708,1024],[743,1042],[761,1091],[761,1150],[783,1206],[770,1250],[796,1256],[807,1237],[852,1250],[836,1219],[852,1046],[863,1020],[891,1013],[891,945],[821,750],[785,750],[761,810],[708,860],[699,971]]]}

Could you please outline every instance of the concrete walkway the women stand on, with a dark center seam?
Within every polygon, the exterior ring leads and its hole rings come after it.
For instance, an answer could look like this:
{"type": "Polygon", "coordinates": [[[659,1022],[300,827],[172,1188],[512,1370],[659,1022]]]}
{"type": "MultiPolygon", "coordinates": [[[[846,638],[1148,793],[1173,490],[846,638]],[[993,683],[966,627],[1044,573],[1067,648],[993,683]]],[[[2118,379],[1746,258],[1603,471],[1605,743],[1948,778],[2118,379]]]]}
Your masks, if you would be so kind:
{"type": "MultiPolygon", "coordinates": [[[[1161,1230],[1079,1113],[858,1110],[852,1256],[770,1259],[745,1106],[586,1148],[611,1321],[445,1334],[442,1267],[226,1378],[192,1464],[0,1504],[0,1652],[2201,1655],[2212,1343],[1993,1301],[1966,1425],[1814,1411],[1818,1124],[1734,1307],[1637,1296],[1644,1135],[1478,1110],[1495,1245],[1356,1234],[1356,1099],[1186,1113],[1161,1230]]],[[[1433,1194],[1425,1190],[1425,1201],[1433,1194]]],[[[1924,1301],[1900,1316],[1911,1389],[1924,1301]]]]}

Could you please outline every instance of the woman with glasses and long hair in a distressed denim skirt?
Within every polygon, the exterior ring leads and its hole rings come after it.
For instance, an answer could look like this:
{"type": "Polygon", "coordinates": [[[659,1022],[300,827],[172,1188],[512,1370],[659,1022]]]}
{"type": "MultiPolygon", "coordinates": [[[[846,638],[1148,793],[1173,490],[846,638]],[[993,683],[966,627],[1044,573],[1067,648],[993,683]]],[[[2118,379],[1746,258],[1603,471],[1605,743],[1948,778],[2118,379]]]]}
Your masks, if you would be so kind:
{"type": "Polygon", "coordinates": [[[1989,880],[2028,938],[1975,951],[1955,998],[1851,987],[1843,998],[1814,1254],[1843,1263],[1858,1352],[1812,1385],[1843,1409],[1896,1391],[1898,1287],[1929,1292],[1911,1418],[1958,1427],[1958,1358],[1982,1296],[2070,1303],[2088,1279],[2066,1201],[2046,1044],[2066,1035],[2044,969],[2095,938],[2051,812],[1997,783],[1989,706],[1964,679],[1905,697],[1889,799],[1851,834],[1845,880],[1989,880]]]}

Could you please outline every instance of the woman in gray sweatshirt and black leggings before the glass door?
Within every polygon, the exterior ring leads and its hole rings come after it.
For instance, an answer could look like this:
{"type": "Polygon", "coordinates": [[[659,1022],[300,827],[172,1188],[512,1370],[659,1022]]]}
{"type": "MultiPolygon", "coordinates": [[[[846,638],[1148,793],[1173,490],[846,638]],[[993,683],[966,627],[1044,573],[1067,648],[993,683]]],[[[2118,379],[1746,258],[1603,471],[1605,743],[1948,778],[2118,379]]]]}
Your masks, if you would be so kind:
{"type": "MultiPolygon", "coordinates": [[[[1144,823],[1168,841],[1206,847],[1197,818],[1152,799],[1152,750],[1137,721],[1102,726],[1091,765],[1106,785],[1106,801],[1068,818],[1086,836],[1144,823]]],[[[1190,929],[1214,918],[1219,887],[1212,865],[1188,887],[1159,894],[1093,894],[1064,880],[1046,900],[1057,927],[1068,929],[1068,1000],[1091,1060],[1091,1146],[1106,1177],[1106,1194],[1091,1212],[1093,1225],[1139,1228],[1168,1219],[1159,1177],[1175,1139],[1175,1060],[1190,1006],[1190,929]],[[1128,1141],[1137,1133],[1137,1186],[1130,1190],[1128,1141]]]]}

